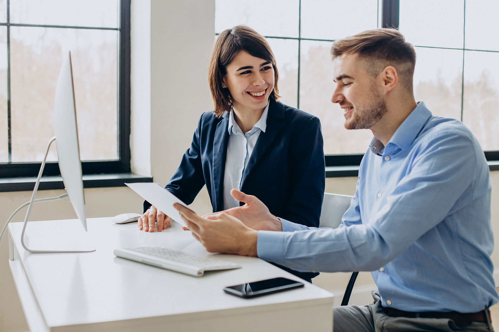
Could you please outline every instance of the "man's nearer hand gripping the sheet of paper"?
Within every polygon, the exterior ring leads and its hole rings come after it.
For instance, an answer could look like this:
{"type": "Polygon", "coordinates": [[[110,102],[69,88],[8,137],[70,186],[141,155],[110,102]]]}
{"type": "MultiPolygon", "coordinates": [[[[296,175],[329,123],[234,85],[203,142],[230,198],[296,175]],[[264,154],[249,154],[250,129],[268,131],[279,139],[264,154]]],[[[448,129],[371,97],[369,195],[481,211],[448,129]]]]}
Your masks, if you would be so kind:
{"type": "Polygon", "coordinates": [[[175,209],[186,222],[192,235],[209,252],[223,252],[256,257],[258,232],[224,212],[202,218],[193,211],[175,203],[175,209]]]}

